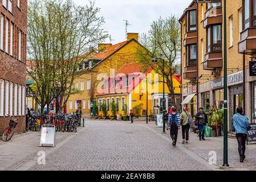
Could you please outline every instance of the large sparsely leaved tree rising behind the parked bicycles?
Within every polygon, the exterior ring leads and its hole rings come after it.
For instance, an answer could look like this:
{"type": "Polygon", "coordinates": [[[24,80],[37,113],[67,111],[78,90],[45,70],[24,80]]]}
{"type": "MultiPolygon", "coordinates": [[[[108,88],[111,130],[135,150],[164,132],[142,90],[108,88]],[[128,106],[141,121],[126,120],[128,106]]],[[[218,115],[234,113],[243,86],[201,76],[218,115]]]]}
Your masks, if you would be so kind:
{"type": "Polygon", "coordinates": [[[90,48],[108,37],[101,28],[104,18],[97,16],[100,9],[94,1],[77,6],[71,0],[32,0],[28,7],[28,52],[31,61],[29,76],[35,80],[41,106],[52,100],[61,111],[74,88],[75,78],[86,73],[79,70],[90,57],[90,48]],[[43,8],[43,12],[38,9],[43,8]],[[84,53],[88,54],[84,54],[84,53]]]}

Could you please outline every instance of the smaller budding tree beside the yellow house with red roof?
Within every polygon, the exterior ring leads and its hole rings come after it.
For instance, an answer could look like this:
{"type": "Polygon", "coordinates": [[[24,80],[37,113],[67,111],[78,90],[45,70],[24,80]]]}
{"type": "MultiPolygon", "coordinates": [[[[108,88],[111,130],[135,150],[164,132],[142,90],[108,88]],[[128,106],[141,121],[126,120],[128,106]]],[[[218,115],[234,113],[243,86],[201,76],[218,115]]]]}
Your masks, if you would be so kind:
{"type": "Polygon", "coordinates": [[[165,83],[172,97],[170,102],[176,107],[172,78],[177,73],[178,66],[176,63],[180,56],[180,24],[178,19],[172,15],[169,18],[162,19],[160,17],[153,21],[148,33],[141,36],[140,43],[142,46],[137,48],[137,60],[144,65],[145,70],[152,67],[161,79],[164,75],[165,83]],[[153,65],[153,57],[160,57],[165,60],[165,70],[162,69],[161,60],[153,65]]]}

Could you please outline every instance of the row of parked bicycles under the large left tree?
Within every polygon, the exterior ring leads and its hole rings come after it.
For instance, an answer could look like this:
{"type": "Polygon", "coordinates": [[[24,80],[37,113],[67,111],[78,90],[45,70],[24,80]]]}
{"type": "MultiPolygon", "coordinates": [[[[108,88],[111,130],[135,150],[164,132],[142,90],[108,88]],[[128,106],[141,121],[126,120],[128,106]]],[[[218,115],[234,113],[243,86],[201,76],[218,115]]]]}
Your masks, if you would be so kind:
{"type": "Polygon", "coordinates": [[[54,125],[55,131],[76,132],[80,117],[75,114],[32,114],[27,118],[26,130],[40,131],[42,125],[54,125]]]}

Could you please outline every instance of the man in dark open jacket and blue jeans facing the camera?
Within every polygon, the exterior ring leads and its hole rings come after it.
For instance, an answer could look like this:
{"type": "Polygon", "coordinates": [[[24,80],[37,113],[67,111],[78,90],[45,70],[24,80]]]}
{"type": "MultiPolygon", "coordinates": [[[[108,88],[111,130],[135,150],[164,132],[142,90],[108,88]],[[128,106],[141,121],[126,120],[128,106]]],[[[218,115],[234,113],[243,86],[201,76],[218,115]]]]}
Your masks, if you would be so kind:
{"type": "Polygon", "coordinates": [[[208,118],[202,107],[199,108],[199,112],[196,114],[196,119],[199,130],[199,140],[205,140],[205,126],[206,123],[208,123],[208,118]]]}

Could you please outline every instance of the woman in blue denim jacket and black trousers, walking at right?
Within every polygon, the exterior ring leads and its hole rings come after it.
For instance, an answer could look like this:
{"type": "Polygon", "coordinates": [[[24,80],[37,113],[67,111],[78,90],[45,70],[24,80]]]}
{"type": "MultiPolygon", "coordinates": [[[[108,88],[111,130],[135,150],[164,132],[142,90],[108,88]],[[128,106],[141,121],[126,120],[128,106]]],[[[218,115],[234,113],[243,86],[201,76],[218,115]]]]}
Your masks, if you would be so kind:
{"type": "Polygon", "coordinates": [[[232,119],[235,129],[235,137],[238,142],[240,162],[242,163],[245,159],[245,142],[247,138],[247,129],[249,129],[249,119],[243,114],[242,107],[237,107],[237,114],[234,114],[232,119]]]}

